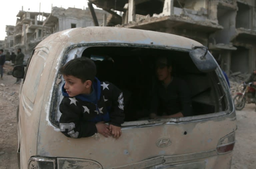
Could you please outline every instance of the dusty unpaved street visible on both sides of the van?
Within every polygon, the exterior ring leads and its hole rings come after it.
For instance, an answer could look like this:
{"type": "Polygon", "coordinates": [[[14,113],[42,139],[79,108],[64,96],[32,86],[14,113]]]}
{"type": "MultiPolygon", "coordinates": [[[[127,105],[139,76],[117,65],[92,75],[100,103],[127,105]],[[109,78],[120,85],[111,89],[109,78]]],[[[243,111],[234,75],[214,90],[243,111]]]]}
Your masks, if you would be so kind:
{"type": "MultiPolygon", "coordinates": [[[[15,80],[6,74],[4,74],[4,80],[0,80],[0,169],[18,168],[16,108],[19,85],[14,84],[15,80]]],[[[256,112],[254,109],[254,104],[248,104],[243,111],[237,111],[238,129],[232,169],[256,168],[256,112]]]]}

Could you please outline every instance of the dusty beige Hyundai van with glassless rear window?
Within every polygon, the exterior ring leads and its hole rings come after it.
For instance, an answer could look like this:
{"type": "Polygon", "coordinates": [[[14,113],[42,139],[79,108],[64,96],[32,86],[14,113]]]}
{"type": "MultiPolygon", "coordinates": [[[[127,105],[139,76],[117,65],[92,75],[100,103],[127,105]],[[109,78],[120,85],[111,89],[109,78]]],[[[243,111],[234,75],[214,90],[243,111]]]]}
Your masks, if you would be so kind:
{"type": "MultiPolygon", "coordinates": [[[[18,135],[21,168],[230,168],[236,114],[229,89],[219,67],[201,73],[193,65],[189,57],[193,45],[201,46],[196,41],[176,35],[110,27],[75,28],[43,40],[30,58],[20,88],[18,135]],[[129,65],[129,58],[139,58],[142,53],[156,56],[171,52],[171,57],[176,58],[179,65],[177,69],[184,70],[182,75],[187,75],[184,77],[191,87],[195,114],[154,120],[143,116],[129,118],[130,115],[126,114],[127,120],[122,124],[122,136],[118,140],[97,133],[88,138],[66,137],[58,126],[58,105],[62,99],[60,87],[63,84],[58,70],[75,57],[100,51],[108,56],[112,54],[112,58],[116,58],[115,64],[124,63],[116,68],[120,72],[126,71],[127,67],[141,68],[136,62],[129,65]]],[[[150,59],[148,56],[140,59],[150,59]]],[[[152,67],[145,66],[145,69],[152,70],[152,67]]],[[[178,72],[182,72],[180,70],[178,72]]],[[[99,76],[104,78],[105,71],[100,72],[99,76]]],[[[112,73],[120,77],[118,71],[112,73]]],[[[144,75],[149,75],[149,72],[144,75]]],[[[136,74],[128,72],[122,76],[127,79],[136,74]]],[[[122,83],[117,83],[117,86],[119,84],[122,86],[122,83]]],[[[146,84],[138,91],[147,88],[146,84]]],[[[135,111],[134,108],[131,112],[135,111]]]]}

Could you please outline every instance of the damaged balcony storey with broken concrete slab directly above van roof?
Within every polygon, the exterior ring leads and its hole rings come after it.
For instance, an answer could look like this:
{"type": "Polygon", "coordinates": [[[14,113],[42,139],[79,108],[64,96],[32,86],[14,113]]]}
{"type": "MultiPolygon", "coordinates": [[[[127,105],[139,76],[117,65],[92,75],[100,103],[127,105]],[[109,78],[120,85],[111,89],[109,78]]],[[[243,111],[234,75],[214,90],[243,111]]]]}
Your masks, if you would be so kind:
{"type": "Polygon", "coordinates": [[[122,27],[155,30],[188,29],[214,32],[223,27],[208,19],[206,1],[191,0],[91,0],[104,10],[124,12],[122,27]],[[115,3],[116,2],[116,3],[115,3]]]}

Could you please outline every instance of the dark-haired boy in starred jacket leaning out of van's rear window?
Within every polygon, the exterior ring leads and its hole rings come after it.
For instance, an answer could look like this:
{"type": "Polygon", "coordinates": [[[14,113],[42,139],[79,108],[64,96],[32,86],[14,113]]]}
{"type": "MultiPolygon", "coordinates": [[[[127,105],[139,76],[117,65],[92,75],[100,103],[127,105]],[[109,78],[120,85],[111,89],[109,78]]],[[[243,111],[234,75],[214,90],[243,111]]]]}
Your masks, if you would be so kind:
{"type": "Polygon", "coordinates": [[[65,80],[59,109],[60,131],[68,137],[121,136],[124,122],[123,93],[96,77],[96,65],[89,58],[76,58],[60,69],[65,80]],[[109,125],[105,124],[109,122],[109,125]]]}

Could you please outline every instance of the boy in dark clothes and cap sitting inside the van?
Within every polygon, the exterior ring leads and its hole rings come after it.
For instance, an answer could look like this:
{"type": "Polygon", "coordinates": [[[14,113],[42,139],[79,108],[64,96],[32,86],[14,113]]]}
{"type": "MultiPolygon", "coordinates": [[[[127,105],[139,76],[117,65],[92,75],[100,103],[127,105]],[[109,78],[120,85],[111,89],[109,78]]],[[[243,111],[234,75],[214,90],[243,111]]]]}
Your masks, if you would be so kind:
{"type": "Polygon", "coordinates": [[[189,89],[186,83],[172,76],[172,66],[167,57],[159,57],[156,74],[159,82],[154,87],[151,100],[151,118],[172,118],[192,115],[189,89]]]}

